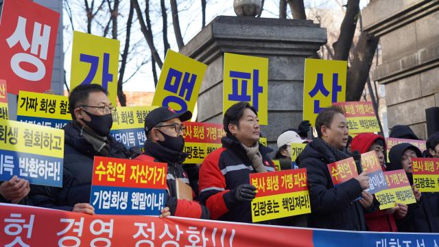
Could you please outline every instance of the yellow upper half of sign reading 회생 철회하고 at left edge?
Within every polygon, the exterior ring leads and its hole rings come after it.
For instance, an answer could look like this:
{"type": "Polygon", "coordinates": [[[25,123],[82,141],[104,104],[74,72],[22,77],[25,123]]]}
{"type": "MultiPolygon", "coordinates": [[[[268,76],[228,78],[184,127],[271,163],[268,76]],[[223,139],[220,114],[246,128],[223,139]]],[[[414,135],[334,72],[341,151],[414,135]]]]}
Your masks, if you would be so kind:
{"type": "Polygon", "coordinates": [[[64,157],[64,130],[0,120],[0,150],[64,157]]]}

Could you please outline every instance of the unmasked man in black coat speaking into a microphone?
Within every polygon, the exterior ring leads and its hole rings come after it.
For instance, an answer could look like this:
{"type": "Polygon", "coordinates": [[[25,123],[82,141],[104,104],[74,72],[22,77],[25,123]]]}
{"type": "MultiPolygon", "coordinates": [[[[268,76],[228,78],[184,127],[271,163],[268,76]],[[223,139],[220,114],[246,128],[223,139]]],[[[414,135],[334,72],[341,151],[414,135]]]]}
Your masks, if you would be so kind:
{"type": "Polygon", "coordinates": [[[348,123],[341,108],[331,106],[316,118],[318,137],[307,145],[296,162],[307,169],[311,213],[308,226],[349,231],[367,231],[364,210],[373,211],[373,197],[366,172],[334,187],[327,167],[351,157],[346,151],[348,123]],[[360,196],[363,198],[356,200],[360,196]]]}

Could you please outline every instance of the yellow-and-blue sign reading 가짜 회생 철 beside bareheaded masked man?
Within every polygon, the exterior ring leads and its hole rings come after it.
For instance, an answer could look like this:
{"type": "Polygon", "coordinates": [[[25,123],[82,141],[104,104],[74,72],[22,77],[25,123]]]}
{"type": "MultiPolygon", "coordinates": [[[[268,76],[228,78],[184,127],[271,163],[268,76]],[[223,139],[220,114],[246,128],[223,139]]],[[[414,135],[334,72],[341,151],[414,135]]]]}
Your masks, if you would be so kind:
{"type": "Polygon", "coordinates": [[[71,122],[69,97],[20,91],[16,120],[51,128],[71,122]]]}

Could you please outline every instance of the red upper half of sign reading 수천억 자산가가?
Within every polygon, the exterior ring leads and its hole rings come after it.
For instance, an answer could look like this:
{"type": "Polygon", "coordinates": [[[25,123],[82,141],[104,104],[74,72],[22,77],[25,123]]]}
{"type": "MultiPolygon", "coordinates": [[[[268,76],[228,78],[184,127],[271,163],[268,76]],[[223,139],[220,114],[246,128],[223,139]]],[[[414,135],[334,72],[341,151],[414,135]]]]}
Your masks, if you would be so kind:
{"type": "Polygon", "coordinates": [[[92,185],[166,188],[167,164],[95,156],[92,185]]]}

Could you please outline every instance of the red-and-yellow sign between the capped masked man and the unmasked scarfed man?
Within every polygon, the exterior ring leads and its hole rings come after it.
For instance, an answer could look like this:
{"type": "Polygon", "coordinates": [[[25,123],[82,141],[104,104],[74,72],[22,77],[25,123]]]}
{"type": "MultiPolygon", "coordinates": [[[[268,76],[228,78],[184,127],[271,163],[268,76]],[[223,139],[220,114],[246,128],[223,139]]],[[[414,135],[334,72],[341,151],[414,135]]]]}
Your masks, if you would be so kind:
{"type": "Polygon", "coordinates": [[[222,124],[185,122],[184,152],[189,154],[185,163],[201,164],[211,152],[222,147],[221,139],[226,136],[222,124]]]}

